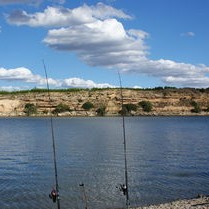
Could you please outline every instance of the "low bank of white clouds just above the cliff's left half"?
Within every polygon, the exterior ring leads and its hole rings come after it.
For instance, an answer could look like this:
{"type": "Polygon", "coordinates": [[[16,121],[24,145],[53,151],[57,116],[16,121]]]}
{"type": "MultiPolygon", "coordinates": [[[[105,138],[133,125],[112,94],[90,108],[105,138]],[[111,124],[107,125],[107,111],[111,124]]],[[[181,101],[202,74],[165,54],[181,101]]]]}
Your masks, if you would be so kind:
{"type": "MultiPolygon", "coordinates": [[[[25,83],[32,83],[42,88],[46,88],[46,78],[40,75],[34,75],[31,70],[20,67],[15,69],[0,68],[0,80],[4,81],[23,81],[25,83]]],[[[53,88],[113,88],[114,86],[104,83],[97,84],[92,80],[84,80],[81,78],[68,78],[64,80],[56,80],[49,78],[48,83],[53,88]]],[[[1,88],[2,89],[2,88],[1,88]]],[[[7,90],[19,90],[19,87],[9,87],[7,90]]],[[[4,88],[4,90],[6,90],[4,88]]]]}

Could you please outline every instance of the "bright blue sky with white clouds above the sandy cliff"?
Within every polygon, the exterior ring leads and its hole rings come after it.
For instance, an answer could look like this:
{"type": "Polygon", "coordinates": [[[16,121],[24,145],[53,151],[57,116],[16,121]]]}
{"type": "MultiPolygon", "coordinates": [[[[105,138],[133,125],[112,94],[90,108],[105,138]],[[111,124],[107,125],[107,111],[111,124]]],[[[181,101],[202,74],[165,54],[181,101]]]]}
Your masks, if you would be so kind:
{"type": "Polygon", "coordinates": [[[0,0],[0,90],[209,87],[208,0],[0,0]]]}

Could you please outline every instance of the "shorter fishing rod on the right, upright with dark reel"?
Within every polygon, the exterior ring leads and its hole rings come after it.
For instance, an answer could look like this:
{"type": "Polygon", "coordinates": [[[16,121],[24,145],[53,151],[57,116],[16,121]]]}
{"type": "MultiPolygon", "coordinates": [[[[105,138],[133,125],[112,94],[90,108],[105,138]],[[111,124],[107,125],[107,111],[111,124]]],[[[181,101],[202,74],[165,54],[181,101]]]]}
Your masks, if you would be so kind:
{"type": "Polygon", "coordinates": [[[124,98],[123,89],[120,73],[118,72],[119,82],[120,82],[120,96],[121,96],[121,115],[122,115],[122,128],[123,128],[123,148],[124,148],[124,161],[125,161],[125,184],[121,185],[121,191],[126,196],[126,208],[129,208],[129,186],[128,186],[128,166],[127,166],[127,150],[126,150],[126,126],[125,126],[125,112],[124,112],[124,98]]]}

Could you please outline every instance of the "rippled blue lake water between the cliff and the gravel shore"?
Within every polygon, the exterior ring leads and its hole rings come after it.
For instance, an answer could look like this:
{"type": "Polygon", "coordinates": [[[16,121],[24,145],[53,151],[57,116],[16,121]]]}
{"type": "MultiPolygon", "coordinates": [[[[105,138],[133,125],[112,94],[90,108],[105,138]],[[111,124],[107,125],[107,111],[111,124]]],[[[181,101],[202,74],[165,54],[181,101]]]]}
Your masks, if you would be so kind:
{"type": "MultiPolygon", "coordinates": [[[[131,206],[209,193],[209,117],[125,118],[131,206]]],[[[54,118],[61,208],[125,206],[122,119],[54,118]]],[[[0,208],[53,209],[49,118],[0,119],[0,208]]]]}

